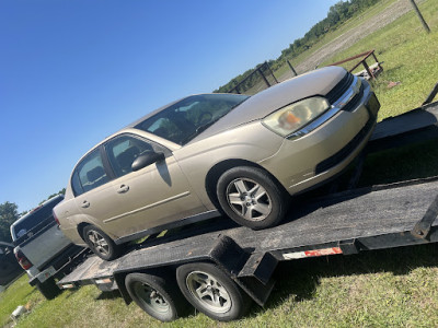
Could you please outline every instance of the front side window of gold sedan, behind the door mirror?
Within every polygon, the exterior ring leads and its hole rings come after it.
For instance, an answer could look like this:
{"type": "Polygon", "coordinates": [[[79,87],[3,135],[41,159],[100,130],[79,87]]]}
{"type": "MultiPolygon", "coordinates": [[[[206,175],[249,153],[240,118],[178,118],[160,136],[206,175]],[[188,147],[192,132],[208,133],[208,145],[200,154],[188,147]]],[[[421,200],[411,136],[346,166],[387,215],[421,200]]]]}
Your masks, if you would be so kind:
{"type": "Polygon", "coordinates": [[[132,172],[132,163],[138,156],[154,151],[151,143],[128,134],[112,139],[106,143],[105,150],[117,177],[132,172]]]}

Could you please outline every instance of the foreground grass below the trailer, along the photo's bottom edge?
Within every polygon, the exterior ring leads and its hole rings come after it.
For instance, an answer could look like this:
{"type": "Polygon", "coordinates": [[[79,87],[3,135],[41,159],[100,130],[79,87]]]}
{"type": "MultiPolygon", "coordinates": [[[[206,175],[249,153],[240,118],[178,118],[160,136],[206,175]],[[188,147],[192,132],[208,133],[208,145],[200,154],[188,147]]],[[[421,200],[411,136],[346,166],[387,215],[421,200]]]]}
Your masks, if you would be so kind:
{"type": "MultiPolygon", "coordinates": [[[[24,277],[25,278],[25,277],[24,277]]],[[[1,320],[12,297],[32,312],[18,327],[436,327],[438,248],[388,249],[281,263],[265,308],[254,305],[242,320],[221,324],[193,314],[171,324],[148,317],[135,304],[95,286],[65,291],[43,301],[21,279],[1,298],[1,320]],[[20,296],[12,296],[13,293],[20,296]],[[28,294],[28,295],[26,295],[28,294]]],[[[11,303],[10,303],[11,302],[11,303]]],[[[12,312],[12,311],[11,311],[12,312]]]]}

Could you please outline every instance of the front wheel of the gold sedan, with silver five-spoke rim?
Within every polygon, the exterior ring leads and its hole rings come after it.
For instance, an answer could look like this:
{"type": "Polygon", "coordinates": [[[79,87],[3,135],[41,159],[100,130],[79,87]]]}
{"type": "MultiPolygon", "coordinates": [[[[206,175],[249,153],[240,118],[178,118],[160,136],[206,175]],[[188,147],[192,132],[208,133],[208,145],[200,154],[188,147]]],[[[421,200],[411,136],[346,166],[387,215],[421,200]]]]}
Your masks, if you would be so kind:
{"type": "Polygon", "coordinates": [[[283,186],[257,167],[228,169],[219,177],[216,192],[223,212],[240,225],[253,230],[275,226],[287,213],[288,195],[283,186]],[[256,189],[256,186],[260,188],[256,189]],[[265,194],[257,195],[257,190],[265,194]],[[260,209],[263,212],[258,212],[260,209]]]}

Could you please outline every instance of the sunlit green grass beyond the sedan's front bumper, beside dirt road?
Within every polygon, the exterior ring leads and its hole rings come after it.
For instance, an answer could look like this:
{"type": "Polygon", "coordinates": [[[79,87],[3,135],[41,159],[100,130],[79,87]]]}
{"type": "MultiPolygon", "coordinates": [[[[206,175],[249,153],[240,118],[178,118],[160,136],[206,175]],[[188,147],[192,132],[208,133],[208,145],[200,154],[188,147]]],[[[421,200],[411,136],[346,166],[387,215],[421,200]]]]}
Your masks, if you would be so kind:
{"type": "Polygon", "coordinates": [[[383,73],[373,82],[381,103],[379,119],[420,106],[438,82],[438,2],[425,1],[419,8],[433,33],[426,34],[411,11],[324,63],[376,49],[378,59],[384,61],[383,73]],[[390,81],[401,84],[389,89],[390,81]]]}

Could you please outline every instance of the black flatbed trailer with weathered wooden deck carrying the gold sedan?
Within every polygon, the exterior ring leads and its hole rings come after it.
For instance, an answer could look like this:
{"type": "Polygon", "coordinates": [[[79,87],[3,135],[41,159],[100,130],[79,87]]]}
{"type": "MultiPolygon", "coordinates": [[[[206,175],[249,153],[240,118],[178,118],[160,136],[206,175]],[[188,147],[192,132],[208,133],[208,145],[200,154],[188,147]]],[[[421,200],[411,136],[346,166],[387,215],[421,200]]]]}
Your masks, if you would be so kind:
{"type": "MultiPolygon", "coordinates": [[[[436,139],[437,131],[438,102],[378,124],[366,152],[436,139]]],[[[356,167],[355,181],[362,165],[356,167]]],[[[252,231],[227,219],[209,221],[148,238],[113,261],[90,256],[58,285],[118,290],[127,304],[134,300],[155,318],[171,320],[185,302],[177,283],[200,312],[230,320],[244,314],[247,297],[265,304],[280,261],[438,242],[438,177],[295,200],[276,227],[252,231]],[[147,293],[140,292],[145,286],[147,293]],[[173,316],[160,314],[165,308],[173,316]]]]}

